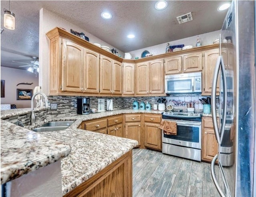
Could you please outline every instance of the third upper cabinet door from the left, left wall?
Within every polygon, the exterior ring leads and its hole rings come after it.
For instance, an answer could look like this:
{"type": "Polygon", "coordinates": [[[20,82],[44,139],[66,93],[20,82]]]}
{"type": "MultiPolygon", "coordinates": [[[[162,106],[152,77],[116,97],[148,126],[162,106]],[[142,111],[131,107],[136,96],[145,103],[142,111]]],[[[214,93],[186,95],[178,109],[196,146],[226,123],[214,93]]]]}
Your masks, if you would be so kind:
{"type": "Polygon", "coordinates": [[[112,94],[112,59],[100,55],[100,93],[112,94]]]}

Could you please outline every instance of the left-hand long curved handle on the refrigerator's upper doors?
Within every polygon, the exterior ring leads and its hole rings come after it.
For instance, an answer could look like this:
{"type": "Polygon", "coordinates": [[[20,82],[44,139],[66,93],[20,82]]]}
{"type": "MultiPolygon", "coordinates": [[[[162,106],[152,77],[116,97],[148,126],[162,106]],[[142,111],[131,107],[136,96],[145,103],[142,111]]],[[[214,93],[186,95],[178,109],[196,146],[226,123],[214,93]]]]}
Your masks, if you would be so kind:
{"type": "Polygon", "coordinates": [[[211,100],[211,110],[212,110],[212,122],[213,122],[213,128],[216,140],[218,144],[220,144],[220,132],[217,122],[217,114],[216,114],[216,88],[217,88],[217,81],[218,81],[218,74],[221,64],[221,56],[218,57],[215,69],[214,69],[214,75],[212,79],[212,100],[211,100]]]}

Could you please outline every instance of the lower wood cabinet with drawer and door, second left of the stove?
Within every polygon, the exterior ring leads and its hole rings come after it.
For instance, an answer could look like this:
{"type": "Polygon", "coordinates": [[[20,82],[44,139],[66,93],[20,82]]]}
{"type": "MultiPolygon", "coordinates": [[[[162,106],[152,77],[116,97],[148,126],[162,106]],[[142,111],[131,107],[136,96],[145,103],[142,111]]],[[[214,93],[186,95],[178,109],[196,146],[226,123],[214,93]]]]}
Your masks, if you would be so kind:
{"type": "Polygon", "coordinates": [[[132,140],[137,140],[137,147],[141,147],[141,114],[124,115],[124,120],[124,137],[132,140]]]}

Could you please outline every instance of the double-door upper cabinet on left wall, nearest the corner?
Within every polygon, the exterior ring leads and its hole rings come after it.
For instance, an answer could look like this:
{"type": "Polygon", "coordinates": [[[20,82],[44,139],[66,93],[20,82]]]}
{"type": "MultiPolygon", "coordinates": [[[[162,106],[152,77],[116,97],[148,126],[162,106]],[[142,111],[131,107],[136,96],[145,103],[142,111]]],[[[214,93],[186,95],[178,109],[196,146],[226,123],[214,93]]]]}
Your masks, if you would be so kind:
{"type": "Polygon", "coordinates": [[[100,55],[100,93],[122,95],[122,63],[100,55]]]}

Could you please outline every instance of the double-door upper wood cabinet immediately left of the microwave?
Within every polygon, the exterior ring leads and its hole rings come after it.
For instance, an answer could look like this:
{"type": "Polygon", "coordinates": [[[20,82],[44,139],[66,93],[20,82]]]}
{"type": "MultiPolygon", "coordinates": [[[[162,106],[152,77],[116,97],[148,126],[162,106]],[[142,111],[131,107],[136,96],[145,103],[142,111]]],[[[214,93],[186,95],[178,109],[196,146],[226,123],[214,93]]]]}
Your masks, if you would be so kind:
{"type": "Polygon", "coordinates": [[[164,93],[164,60],[136,64],[136,95],[164,93]]]}

